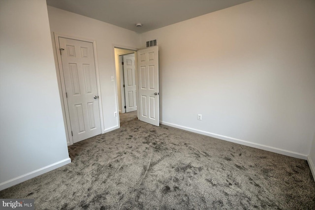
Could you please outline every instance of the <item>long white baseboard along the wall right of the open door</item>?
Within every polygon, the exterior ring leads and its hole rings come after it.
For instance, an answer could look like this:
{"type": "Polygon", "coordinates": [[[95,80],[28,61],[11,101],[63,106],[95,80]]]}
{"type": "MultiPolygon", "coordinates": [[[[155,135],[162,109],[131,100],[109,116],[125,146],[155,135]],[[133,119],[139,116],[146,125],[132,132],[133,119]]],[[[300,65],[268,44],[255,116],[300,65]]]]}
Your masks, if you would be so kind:
{"type": "Polygon", "coordinates": [[[294,152],[294,151],[283,150],[283,149],[280,149],[280,148],[270,147],[270,146],[267,146],[267,145],[252,143],[252,142],[244,141],[244,140],[241,140],[241,139],[235,139],[235,138],[228,137],[228,136],[222,136],[222,135],[219,135],[219,134],[210,133],[210,132],[207,132],[207,131],[202,131],[202,130],[198,130],[198,129],[194,129],[194,128],[189,128],[189,127],[185,127],[185,126],[182,126],[182,125],[177,125],[177,124],[173,124],[173,123],[169,123],[169,122],[165,122],[165,121],[160,121],[160,123],[163,124],[163,125],[176,127],[176,128],[182,129],[182,130],[187,130],[187,131],[190,131],[190,132],[193,132],[193,133],[198,133],[198,134],[214,137],[214,138],[217,138],[217,139],[221,139],[221,140],[225,140],[225,141],[228,141],[228,142],[237,143],[237,144],[240,144],[240,145],[245,145],[245,146],[256,148],[256,149],[260,149],[260,150],[272,151],[272,152],[275,152],[275,153],[278,153],[278,154],[283,154],[283,155],[286,155],[286,156],[295,157],[295,158],[299,158],[299,159],[303,159],[303,160],[307,159],[307,155],[306,154],[302,154],[302,153],[298,153],[298,152],[294,152]]]}

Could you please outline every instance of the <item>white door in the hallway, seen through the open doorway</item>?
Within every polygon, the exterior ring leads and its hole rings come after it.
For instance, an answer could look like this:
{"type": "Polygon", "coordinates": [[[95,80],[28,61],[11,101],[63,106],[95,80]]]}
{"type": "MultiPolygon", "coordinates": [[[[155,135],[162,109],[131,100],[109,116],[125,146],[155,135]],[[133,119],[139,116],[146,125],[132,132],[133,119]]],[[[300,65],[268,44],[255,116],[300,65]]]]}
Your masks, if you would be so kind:
{"type": "Polygon", "coordinates": [[[124,85],[126,112],[137,110],[136,103],[136,76],[134,57],[124,56],[124,85]]]}

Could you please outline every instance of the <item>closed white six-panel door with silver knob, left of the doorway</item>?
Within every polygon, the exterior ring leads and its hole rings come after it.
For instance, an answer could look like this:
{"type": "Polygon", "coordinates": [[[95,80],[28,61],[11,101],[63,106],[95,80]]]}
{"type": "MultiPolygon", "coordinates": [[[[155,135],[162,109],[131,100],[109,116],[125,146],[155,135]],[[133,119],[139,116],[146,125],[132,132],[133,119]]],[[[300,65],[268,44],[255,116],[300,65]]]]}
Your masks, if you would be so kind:
{"type": "Polygon", "coordinates": [[[59,38],[73,143],[101,133],[93,43],[59,38]]]}

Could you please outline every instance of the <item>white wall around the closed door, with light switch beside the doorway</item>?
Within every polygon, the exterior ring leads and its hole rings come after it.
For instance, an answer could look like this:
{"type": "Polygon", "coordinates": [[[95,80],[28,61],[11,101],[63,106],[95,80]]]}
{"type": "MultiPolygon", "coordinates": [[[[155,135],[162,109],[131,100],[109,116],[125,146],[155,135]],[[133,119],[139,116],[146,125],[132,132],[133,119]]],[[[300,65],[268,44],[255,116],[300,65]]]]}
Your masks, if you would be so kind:
{"type": "MultiPolygon", "coordinates": [[[[112,76],[116,78],[114,47],[136,49],[139,46],[139,35],[130,30],[51,6],[48,6],[48,16],[53,45],[55,45],[54,32],[96,41],[101,89],[98,94],[101,95],[104,122],[102,133],[118,128],[118,118],[114,117],[114,112],[118,112],[117,86],[116,82],[111,82],[112,76]]],[[[55,48],[54,54],[57,58],[55,48]]],[[[57,63],[57,59],[55,61],[57,63]]]]}

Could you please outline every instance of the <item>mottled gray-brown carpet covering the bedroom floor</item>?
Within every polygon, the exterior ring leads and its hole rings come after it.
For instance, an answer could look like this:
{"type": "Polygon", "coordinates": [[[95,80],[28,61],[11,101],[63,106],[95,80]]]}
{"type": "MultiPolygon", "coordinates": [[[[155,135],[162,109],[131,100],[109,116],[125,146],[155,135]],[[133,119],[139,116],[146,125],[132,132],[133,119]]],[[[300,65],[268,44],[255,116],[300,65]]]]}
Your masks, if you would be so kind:
{"type": "Polygon", "coordinates": [[[315,209],[308,163],[121,115],[69,147],[72,163],[0,191],[38,210],[315,209]]]}

